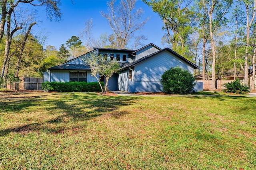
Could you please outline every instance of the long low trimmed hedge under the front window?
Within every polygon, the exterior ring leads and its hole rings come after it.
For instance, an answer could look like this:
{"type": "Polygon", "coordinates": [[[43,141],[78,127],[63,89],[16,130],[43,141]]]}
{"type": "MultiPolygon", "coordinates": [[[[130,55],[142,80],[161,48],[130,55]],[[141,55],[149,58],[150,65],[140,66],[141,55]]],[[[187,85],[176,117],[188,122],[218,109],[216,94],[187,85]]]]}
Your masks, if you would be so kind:
{"type": "Polygon", "coordinates": [[[42,88],[49,92],[101,92],[98,82],[44,82],[42,88]]]}

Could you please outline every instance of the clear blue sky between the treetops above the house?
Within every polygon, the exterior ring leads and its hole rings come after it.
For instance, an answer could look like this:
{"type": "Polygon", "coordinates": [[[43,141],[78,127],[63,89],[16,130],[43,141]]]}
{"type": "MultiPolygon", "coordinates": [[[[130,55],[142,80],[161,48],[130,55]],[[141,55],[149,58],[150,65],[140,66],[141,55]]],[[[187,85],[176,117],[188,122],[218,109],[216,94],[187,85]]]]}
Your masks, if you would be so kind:
{"type": "MultiPolygon", "coordinates": [[[[58,49],[71,36],[79,36],[80,32],[84,29],[85,21],[90,20],[90,18],[93,20],[92,36],[95,39],[101,33],[112,33],[106,19],[100,14],[100,11],[107,12],[107,0],[73,0],[73,2],[74,4],[70,0],[62,0],[60,9],[63,16],[62,21],[59,22],[47,20],[46,12],[42,8],[39,11],[38,20],[42,22],[38,22],[34,29],[46,33],[47,40],[45,46],[53,45],[58,49]]],[[[152,8],[138,0],[136,8],[140,7],[145,12],[143,18],[150,17],[150,19],[138,34],[143,34],[148,38],[145,44],[154,43],[158,47],[163,48],[161,44],[161,38],[164,34],[164,31],[162,31],[162,20],[152,11],[152,8]]]]}

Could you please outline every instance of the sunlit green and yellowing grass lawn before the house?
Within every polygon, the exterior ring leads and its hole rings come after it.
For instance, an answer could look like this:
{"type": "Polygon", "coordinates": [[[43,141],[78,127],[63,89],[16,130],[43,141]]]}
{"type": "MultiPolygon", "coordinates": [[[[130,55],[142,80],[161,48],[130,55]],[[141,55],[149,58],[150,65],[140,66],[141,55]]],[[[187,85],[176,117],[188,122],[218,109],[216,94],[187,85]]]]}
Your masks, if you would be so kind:
{"type": "Polygon", "coordinates": [[[0,93],[0,169],[256,169],[256,98],[0,93]]]}

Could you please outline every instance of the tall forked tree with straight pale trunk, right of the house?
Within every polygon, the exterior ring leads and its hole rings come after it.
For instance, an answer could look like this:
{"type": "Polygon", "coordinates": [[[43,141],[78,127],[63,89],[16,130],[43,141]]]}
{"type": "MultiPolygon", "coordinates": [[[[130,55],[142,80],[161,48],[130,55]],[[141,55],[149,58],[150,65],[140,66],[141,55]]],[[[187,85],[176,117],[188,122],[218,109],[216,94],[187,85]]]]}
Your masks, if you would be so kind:
{"type": "Polygon", "coordinates": [[[202,0],[202,6],[209,17],[209,34],[212,49],[212,90],[215,89],[215,62],[216,47],[214,43],[214,32],[225,22],[224,15],[228,12],[233,0],[202,0]]]}

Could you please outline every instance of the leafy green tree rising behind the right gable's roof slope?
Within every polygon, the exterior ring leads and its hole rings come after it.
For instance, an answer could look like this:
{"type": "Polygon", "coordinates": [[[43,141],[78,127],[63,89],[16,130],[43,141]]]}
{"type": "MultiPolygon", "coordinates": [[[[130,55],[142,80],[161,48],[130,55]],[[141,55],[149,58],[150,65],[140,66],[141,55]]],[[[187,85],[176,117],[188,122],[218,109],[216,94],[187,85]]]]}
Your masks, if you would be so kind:
{"type": "MultiPolygon", "coordinates": [[[[192,0],[143,0],[158,14],[164,22],[166,30],[164,39],[172,45],[172,49],[180,55],[188,56],[188,35],[195,24],[195,13],[191,10],[192,0]]],[[[192,60],[192,59],[190,59],[192,60]]]]}

